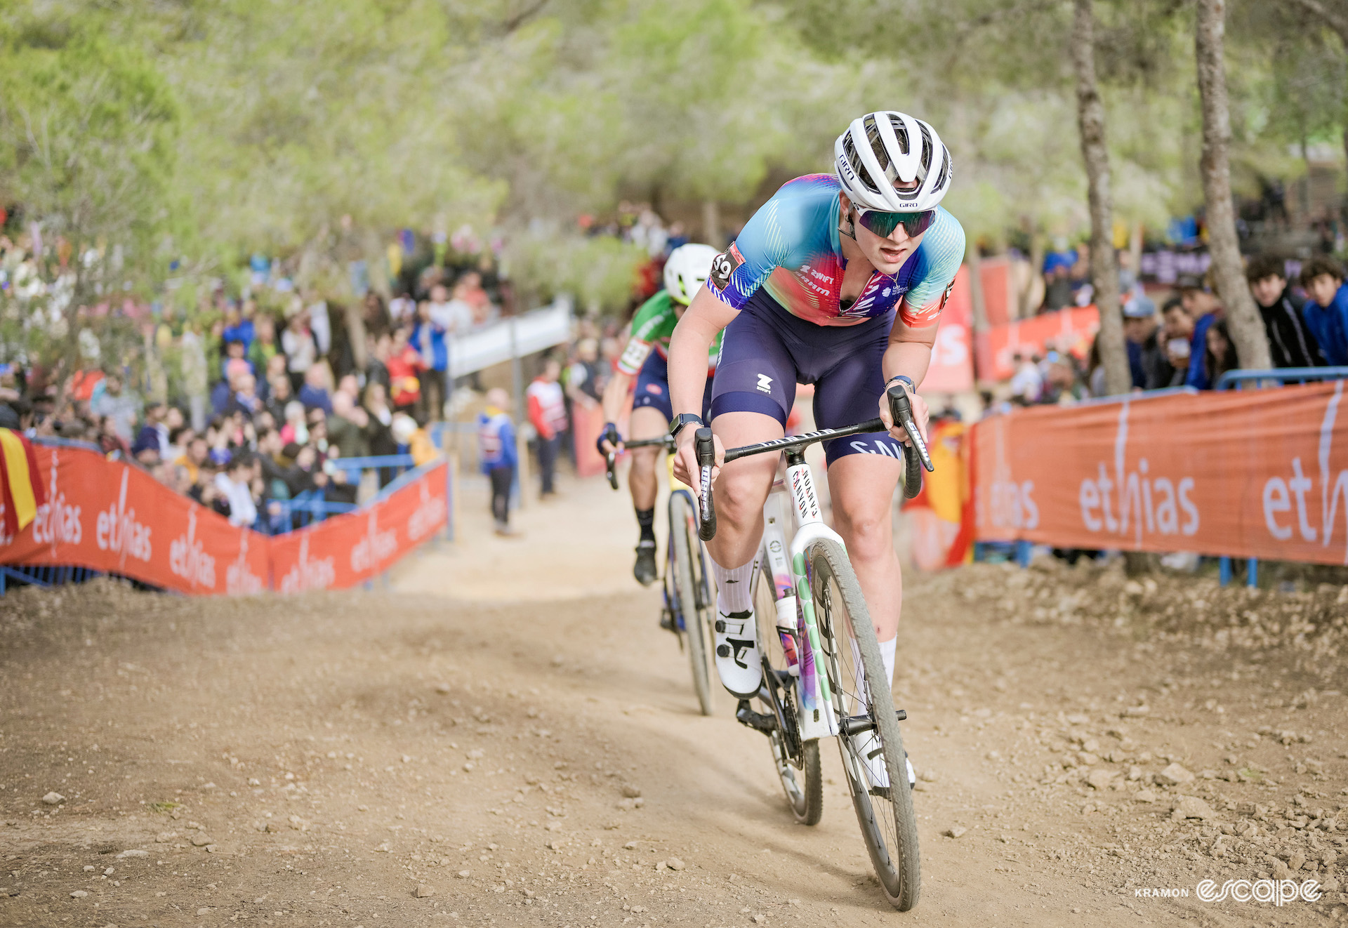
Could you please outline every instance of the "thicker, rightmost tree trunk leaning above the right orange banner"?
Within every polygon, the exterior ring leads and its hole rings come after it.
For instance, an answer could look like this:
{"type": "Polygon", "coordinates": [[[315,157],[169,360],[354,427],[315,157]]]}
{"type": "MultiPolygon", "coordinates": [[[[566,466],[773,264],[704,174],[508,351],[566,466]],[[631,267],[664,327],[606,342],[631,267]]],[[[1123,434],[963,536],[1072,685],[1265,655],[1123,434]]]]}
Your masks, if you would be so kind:
{"type": "Polygon", "coordinates": [[[1227,310],[1231,341],[1242,368],[1262,369],[1273,366],[1273,357],[1263,319],[1246,283],[1231,202],[1231,112],[1227,108],[1227,67],[1223,63],[1225,18],[1225,0],[1198,0],[1194,38],[1198,94],[1202,98],[1202,160],[1198,167],[1208,206],[1208,251],[1217,295],[1227,310]]]}

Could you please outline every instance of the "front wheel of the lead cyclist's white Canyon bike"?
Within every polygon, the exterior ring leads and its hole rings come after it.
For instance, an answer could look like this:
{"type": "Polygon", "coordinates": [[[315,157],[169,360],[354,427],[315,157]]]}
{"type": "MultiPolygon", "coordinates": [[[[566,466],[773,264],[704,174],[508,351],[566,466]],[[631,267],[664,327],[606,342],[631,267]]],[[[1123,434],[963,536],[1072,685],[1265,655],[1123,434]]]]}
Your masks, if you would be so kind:
{"type": "Polygon", "coordinates": [[[861,734],[860,738],[838,735],[852,805],[884,896],[894,908],[906,912],[918,904],[921,892],[918,827],[907,754],[880,645],[842,545],[830,539],[814,541],[806,550],[806,560],[811,567],[810,590],[833,690],[833,710],[844,730],[861,734]],[[868,739],[868,733],[874,733],[875,739],[868,739]],[[883,761],[888,785],[871,783],[865,768],[875,760],[883,761]]]}

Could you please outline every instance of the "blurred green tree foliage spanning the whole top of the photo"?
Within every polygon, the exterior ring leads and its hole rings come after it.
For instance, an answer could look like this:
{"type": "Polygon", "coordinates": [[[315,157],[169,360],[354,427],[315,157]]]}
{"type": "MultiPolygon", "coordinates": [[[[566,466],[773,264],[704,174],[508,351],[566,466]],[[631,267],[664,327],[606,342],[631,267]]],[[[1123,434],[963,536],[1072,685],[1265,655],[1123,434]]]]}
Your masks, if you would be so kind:
{"type": "MultiPolygon", "coordinates": [[[[1116,211],[1159,228],[1201,198],[1192,11],[1095,9],[1116,211]]],[[[752,202],[878,108],[938,127],[975,236],[1073,234],[1070,27],[1061,0],[0,0],[0,201],[47,245],[0,338],[75,353],[102,325],[81,304],[163,295],[170,260],[179,308],[252,252],[344,296],[400,226],[504,230],[522,294],[616,308],[642,257],[566,232],[577,211],[752,202]]],[[[1345,61],[1301,4],[1233,0],[1244,189],[1340,137],[1345,61]]]]}

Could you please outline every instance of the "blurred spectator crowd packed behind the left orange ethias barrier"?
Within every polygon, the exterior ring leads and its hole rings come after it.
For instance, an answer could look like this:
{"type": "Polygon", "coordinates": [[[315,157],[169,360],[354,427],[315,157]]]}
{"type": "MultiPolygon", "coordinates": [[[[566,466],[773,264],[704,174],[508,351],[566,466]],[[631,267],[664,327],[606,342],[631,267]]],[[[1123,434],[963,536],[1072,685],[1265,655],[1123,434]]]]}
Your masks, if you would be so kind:
{"type": "MultiPolygon", "coordinates": [[[[0,237],[5,267],[24,260],[23,245],[0,237]]],[[[356,504],[361,469],[344,459],[434,457],[423,427],[445,418],[462,380],[450,346],[493,322],[503,295],[507,287],[476,265],[456,273],[433,264],[394,299],[371,291],[355,307],[313,292],[266,291],[263,302],[222,290],[191,318],[127,307],[155,361],[140,365],[143,389],[121,366],[62,377],[4,364],[0,427],[93,444],[237,525],[288,531],[356,504]],[[168,365],[177,376],[154,391],[155,372],[168,365]],[[154,392],[163,399],[146,399],[154,392]]],[[[380,486],[395,475],[372,473],[380,486]]]]}

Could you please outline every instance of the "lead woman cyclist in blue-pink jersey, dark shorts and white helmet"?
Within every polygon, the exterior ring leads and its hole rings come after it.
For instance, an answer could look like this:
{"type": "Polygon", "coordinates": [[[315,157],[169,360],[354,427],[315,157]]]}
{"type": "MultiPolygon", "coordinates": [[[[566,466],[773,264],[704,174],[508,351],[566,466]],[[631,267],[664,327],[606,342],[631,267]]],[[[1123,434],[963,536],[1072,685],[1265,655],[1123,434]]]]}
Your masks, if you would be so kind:
{"type": "MultiPolygon", "coordinates": [[[[884,391],[899,383],[913,392],[926,374],[937,319],[964,259],[964,229],[938,207],[950,187],[950,154],[922,120],[868,113],[838,136],[833,152],[832,175],[790,180],[754,214],[674,330],[674,473],[697,486],[689,426],[702,424],[706,352],[721,330],[710,407],[717,465],[727,446],[782,436],[797,383],[816,385],[820,428],[875,418],[879,408],[888,432],[825,443],[825,454],[834,528],[892,677],[902,576],[890,506],[906,439],[892,428],[884,391]]],[[[926,403],[915,395],[913,411],[926,432],[926,403]]],[[[758,691],[762,673],[749,581],[776,463],[758,455],[713,471],[716,668],[740,698],[758,691]]]]}

